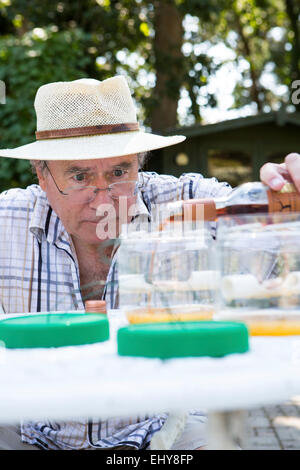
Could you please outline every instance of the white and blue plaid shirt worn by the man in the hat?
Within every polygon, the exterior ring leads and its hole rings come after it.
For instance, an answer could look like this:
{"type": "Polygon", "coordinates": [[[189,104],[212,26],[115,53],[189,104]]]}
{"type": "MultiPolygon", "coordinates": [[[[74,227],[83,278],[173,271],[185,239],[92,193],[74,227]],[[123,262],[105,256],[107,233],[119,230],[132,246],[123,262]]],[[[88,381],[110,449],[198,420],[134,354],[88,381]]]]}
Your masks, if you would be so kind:
{"type": "MultiPolygon", "coordinates": [[[[227,183],[196,173],[180,178],[142,173],[136,217],[151,217],[151,208],[179,199],[218,197],[231,191],[227,183]]],[[[0,301],[4,313],[84,309],[79,267],[69,234],[37,185],[0,195],[0,301]]],[[[215,229],[212,224],[212,230],[215,229]]],[[[103,298],[118,302],[118,273],[113,257],[103,298]]],[[[143,449],[167,415],[106,421],[26,422],[22,440],[45,449],[90,449],[129,445],[143,449]]]]}

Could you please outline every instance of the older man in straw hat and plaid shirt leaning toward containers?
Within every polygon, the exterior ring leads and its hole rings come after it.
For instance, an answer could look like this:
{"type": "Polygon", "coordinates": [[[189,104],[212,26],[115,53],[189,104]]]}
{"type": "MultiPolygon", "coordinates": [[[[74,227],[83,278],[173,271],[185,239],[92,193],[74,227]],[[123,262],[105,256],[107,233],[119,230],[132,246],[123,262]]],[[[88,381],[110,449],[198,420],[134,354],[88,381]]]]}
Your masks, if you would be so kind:
{"type": "MultiPolygon", "coordinates": [[[[44,85],[37,92],[35,109],[36,142],[0,151],[1,156],[31,160],[39,180],[39,185],[0,196],[2,310],[80,310],[86,298],[105,299],[108,307],[116,308],[115,253],[99,231],[102,209],[113,208],[105,222],[115,224],[117,235],[120,222],[151,219],[154,205],[174,201],[178,194],[182,199],[218,197],[231,188],[200,174],[177,179],[139,172],[145,152],[184,137],[141,132],[123,77],[44,85]],[[124,198],[126,207],[134,205],[134,213],[124,214],[124,198]]],[[[273,177],[267,169],[265,180],[273,177]]],[[[146,449],[165,420],[161,414],[24,422],[20,435],[18,427],[0,428],[0,448],[146,449]]],[[[200,412],[191,412],[173,448],[203,446],[204,422],[200,412]]]]}

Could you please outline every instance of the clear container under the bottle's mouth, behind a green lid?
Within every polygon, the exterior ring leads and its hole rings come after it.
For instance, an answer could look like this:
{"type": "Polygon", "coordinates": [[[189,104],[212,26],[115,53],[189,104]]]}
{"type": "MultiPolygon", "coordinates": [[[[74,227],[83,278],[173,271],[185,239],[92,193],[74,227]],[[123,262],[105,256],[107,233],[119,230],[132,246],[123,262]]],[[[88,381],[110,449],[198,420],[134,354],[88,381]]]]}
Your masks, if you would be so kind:
{"type": "Polygon", "coordinates": [[[211,319],[218,273],[207,226],[173,223],[121,237],[119,302],[130,323],[211,319]]]}

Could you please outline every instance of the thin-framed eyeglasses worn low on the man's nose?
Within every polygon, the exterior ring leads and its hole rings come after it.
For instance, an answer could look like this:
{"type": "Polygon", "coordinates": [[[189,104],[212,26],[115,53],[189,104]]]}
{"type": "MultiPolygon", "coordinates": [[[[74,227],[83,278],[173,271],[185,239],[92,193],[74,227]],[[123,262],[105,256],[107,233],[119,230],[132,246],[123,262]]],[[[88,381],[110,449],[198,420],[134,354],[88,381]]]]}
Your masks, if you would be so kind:
{"type": "Polygon", "coordinates": [[[136,196],[138,189],[142,187],[142,183],[139,183],[138,181],[118,181],[117,183],[108,185],[107,188],[97,188],[97,186],[78,182],[78,184],[70,186],[62,191],[58,187],[46,162],[45,165],[60,194],[67,196],[74,204],[87,204],[92,202],[100,191],[108,191],[112,199],[134,197],[136,196]]]}

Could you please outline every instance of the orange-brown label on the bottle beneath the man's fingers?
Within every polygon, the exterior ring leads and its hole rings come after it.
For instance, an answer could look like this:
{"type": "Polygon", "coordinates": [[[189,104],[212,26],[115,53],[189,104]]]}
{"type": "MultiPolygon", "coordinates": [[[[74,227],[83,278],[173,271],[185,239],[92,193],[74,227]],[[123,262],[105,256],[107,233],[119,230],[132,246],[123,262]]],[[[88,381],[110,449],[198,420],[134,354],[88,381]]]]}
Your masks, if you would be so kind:
{"type": "Polygon", "coordinates": [[[300,194],[292,185],[285,185],[281,191],[267,191],[269,212],[300,212],[300,194]]]}

